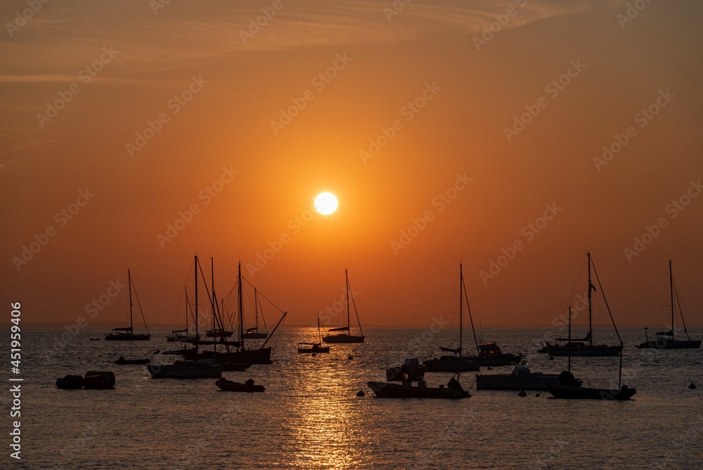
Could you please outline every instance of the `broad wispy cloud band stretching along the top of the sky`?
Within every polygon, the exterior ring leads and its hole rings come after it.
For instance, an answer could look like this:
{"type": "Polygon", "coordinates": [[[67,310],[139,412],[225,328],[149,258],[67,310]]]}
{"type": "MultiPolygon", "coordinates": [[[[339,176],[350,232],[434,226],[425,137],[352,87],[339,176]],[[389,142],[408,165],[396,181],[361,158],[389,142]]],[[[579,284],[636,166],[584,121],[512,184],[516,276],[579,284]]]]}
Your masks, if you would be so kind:
{"type": "MultiPolygon", "coordinates": [[[[246,44],[240,31],[247,31],[250,20],[262,15],[259,1],[171,2],[158,15],[153,14],[148,0],[47,6],[26,26],[33,28],[32,34],[16,34],[12,42],[0,43],[6,63],[17,64],[0,81],[64,80],[72,72],[69,68],[77,72],[88,65],[101,44],[121,51],[120,60],[110,64],[112,70],[104,75],[133,82],[138,72],[169,72],[190,61],[202,63],[238,53],[471,35],[494,22],[494,15],[517,5],[514,0],[414,0],[389,21],[384,8],[393,8],[393,4],[392,0],[285,1],[246,44]]],[[[505,27],[604,4],[610,1],[529,0],[505,27]]]]}

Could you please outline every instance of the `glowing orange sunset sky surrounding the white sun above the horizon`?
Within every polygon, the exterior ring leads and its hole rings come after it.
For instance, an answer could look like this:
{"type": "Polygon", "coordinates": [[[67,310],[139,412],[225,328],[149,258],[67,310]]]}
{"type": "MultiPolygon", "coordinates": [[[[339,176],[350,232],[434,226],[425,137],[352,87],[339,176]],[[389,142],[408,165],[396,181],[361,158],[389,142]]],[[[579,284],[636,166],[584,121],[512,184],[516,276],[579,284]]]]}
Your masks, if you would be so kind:
{"type": "MultiPolygon", "coordinates": [[[[157,5],[49,2],[26,23],[25,1],[0,6],[2,297],[26,321],[75,322],[129,267],[168,322],[197,250],[219,291],[241,260],[294,324],[348,268],[362,324],[430,326],[463,259],[483,326],[549,326],[591,250],[619,324],[662,319],[672,258],[703,326],[698,2],[157,5]],[[339,209],[309,217],[321,191],[339,209]]],[[[126,317],[122,293],[96,320],[126,317]]]]}

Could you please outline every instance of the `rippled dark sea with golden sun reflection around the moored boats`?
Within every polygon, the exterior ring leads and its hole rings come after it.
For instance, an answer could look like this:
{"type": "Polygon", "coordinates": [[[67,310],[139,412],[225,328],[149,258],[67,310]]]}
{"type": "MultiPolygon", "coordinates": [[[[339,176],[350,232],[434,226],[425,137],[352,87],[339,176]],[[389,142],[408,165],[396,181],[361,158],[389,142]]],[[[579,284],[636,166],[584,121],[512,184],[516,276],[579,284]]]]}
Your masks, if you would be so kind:
{"type": "MultiPolygon", "coordinates": [[[[366,343],[332,345],[329,355],[312,357],[299,355],[296,343],[313,341],[316,329],[284,329],[273,341],[273,364],[224,373],[266,386],[249,394],[221,392],[214,379],[154,380],[146,366],[112,363],[120,356],[172,362],[173,356],[151,354],[172,348],[164,331],[135,343],[89,341],[103,332],[84,331],[68,344],[60,330],[22,331],[22,461],[9,457],[3,433],[0,468],[703,468],[703,350],[638,350],[643,330],[626,329],[623,375],[637,388],[629,402],[477,391],[472,373],[460,378],[472,398],[387,400],[374,398],[366,382],[385,380],[386,367],[406,357],[423,359],[437,345],[455,346],[456,331],[365,333],[366,343]],[[58,377],[88,370],[114,371],[115,389],[56,388],[58,377]],[[689,389],[691,382],[698,388],[689,389]],[[366,396],[357,398],[359,390],[366,396]]],[[[559,372],[565,357],[550,361],[535,352],[543,334],[484,329],[482,337],[506,352],[529,352],[535,371],[559,372]]],[[[611,335],[594,336],[608,341],[611,335]]],[[[572,371],[591,386],[611,386],[618,358],[573,358],[572,371]]],[[[428,373],[426,379],[437,386],[450,376],[428,373]]],[[[2,397],[8,409],[8,393],[2,397]]]]}

